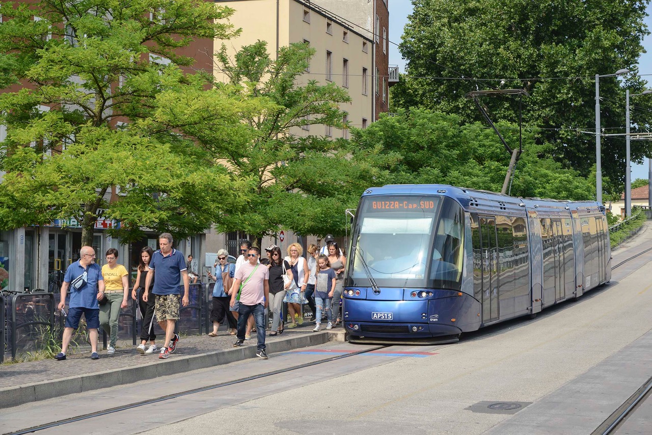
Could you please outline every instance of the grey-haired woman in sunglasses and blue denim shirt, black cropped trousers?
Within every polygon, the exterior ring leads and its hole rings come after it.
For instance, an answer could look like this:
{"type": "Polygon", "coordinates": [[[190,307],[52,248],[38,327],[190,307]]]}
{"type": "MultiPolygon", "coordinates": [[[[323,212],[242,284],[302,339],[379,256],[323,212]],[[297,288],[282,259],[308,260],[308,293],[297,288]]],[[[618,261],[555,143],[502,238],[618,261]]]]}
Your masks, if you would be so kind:
{"type": "Polygon", "coordinates": [[[228,255],[226,249],[220,249],[217,251],[217,265],[215,267],[215,276],[211,274],[211,271],[207,272],[209,279],[215,281],[215,287],[213,287],[213,308],[211,309],[211,322],[213,322],[213,332],[209,333],[209,337],[217,337],[217,330],[220,327],[220,324],[224,322],[226,317],[227,322],[231,331],[228,335],[235,335],[235,317],[229,309],[229,303],[231,297],[229,297],[227,291],[233,284],[233,275],[235,275],[235,264],[228,262],[228,255]]]}

